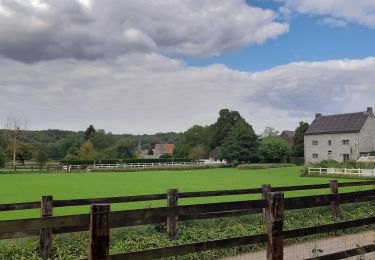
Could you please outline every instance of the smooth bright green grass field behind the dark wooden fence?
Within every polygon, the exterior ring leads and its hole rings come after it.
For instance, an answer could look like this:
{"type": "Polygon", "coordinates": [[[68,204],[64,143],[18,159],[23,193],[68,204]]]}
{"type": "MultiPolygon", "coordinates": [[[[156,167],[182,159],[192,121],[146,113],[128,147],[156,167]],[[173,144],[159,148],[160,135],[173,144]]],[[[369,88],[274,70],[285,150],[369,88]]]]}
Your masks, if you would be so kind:
{"type": "MultiPolygon", "coordinates": [[[[54,199],[98,198],[164,193],[167,189],[180,191],[208,191],[246,189],[272,186],[290,186],[327,183],[324,177],[300,177],[301,167],[238,170],[235,168],[148,171],[128,173],[47,173],[0,174],[0,204],[38,201],[42,195],[54,199]]],[[[355,181],[339,179],[339,182],[355,181]]],[[[354,191],[361,187],[345,188],[354,191]]],[[[328,190],[289,192],[286,196],[327,193],[328,190]]],[[[180,204],[233,201],[259,198],[259,195],[241,195],[180,200],[180,204]]],[[[136,202],[111,205],[112,210],[164,206],[165,201],[136,202]]],[[[55,208],[54,215],[88,213],[88,206],[55,208]]],[[[38,217],[39,210],[0,212],[0,219],[38,217]]]]}

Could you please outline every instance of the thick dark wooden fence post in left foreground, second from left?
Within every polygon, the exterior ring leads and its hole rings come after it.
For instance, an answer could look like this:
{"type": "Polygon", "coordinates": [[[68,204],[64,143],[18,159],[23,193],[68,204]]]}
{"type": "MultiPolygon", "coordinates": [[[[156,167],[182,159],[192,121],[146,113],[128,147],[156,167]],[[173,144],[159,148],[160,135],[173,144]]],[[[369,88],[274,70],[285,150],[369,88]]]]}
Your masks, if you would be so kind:
{"type": "Polygon", "coordinates": [[[109,204],[93,204],[90,210],[89,260],[109,259],[109,204]]]}

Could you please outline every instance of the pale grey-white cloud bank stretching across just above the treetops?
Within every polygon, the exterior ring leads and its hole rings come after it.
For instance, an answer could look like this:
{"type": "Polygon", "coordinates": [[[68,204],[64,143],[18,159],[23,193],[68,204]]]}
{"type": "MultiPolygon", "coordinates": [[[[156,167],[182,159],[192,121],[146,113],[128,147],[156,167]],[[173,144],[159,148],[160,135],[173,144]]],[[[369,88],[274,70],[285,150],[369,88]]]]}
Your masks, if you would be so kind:
{"type": "Polygon", "coordinates": [[[31,128],[117,133],[183,131],[236,109],[258,132],[293,129],[315,112],[362,111],[375,97],[375,58],[299,62],[257,73],[189,67],[160,54],[25,64],[0,59],[0,122],[12,112],[31,128]],[[17,75],[16,77],[14,75],[17,75]]]}

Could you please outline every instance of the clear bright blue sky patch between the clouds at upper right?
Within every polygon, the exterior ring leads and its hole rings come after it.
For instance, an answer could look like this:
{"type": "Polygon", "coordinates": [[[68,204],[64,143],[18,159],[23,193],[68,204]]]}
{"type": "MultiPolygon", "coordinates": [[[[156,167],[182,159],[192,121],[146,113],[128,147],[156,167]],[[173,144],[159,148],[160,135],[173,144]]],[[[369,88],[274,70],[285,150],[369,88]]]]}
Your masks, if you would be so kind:
{"type": "MultiPolygon", "coordinates": [[[[282,6],[275,1],[247,1],[248,4],[272,9],[282,6]]],[[[184,59],[192,66],[225,64],[241,71],[262,71],[298,61],[363,59],[375,55],[375,30],[349,23],[335,27],[321,23],[322,16],[294,14],[289,32],[264,44],[243,47],[220,56],[184,59]]],[[[282,19],[281,19],[282,21],[282,19]]]]}

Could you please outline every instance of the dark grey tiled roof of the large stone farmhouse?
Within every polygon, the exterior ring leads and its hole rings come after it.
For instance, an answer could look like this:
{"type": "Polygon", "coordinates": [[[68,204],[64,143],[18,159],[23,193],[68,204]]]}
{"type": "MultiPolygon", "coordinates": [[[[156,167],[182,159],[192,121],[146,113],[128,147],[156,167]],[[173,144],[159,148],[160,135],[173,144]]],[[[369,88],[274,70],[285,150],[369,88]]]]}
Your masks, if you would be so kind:
{"type": "Polygon", "coordinates": [[[358,133],[367,118],[367,112],[321,116],[311,123],[305,135],[358,133]]]}

